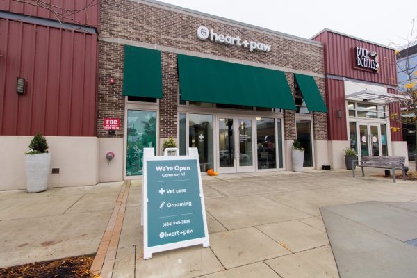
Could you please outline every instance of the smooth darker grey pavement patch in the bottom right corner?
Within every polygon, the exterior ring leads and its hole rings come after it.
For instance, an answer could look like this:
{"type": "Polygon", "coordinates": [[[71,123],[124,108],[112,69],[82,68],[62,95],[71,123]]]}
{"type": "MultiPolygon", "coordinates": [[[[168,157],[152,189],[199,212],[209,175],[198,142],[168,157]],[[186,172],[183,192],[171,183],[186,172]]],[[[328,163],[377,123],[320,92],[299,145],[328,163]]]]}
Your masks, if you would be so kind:
{"type": "Polygon", "coordinates": [[[320,209],[342,278],[414,278],[417,202],[359,202],[320,209]]]}

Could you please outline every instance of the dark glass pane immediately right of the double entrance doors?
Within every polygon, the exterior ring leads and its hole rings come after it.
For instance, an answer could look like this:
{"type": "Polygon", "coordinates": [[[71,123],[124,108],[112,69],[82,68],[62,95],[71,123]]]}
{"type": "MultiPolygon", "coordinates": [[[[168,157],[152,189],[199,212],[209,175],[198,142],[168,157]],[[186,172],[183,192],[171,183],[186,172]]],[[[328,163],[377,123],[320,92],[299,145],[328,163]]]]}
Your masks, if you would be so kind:
{"type": "Polygon", "coordinates": [[[258,169],[275,169],[275,120],[256,118],[258,169]]]}

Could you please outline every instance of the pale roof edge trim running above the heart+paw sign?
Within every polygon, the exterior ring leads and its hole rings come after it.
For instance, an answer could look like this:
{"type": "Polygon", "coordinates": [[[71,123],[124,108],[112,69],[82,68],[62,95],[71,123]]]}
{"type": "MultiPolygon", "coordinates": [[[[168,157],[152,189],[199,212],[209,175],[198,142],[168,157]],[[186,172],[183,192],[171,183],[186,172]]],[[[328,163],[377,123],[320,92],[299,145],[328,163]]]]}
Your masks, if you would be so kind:
{"type": "Polygon", "coordinates": [[[220,20],[220,21],[225,22],[225,23],[236,24],[236,25],[240,25],[240,26],[243,26],[243,27],[252,28],[252,29],[255,29],[257,31],[261,31],[263,33],[270,33],[272,35],[279,35],[281,38],[286,38],[288,40],[295,40],[295,41],[298,41],[298,42],[304,42],[304,43],[307,43],[307,44],[312,44],[312,45],[317,46],[317,47],[322,47],[322,43],[318,42],[316,40],[297,37],[296,35],[290,35],[290,34],[282,33],[282,32],[279,32],[279,31],[274,31],[274,30],[271,30],[271,29],[268,29],[268,28],[263,28],[263,27],[260,27],[260,26],[247,24],[247,23],[244,23],[244,22],[238,22],[237,20],[227,19],[225,17],[219,17],[217,15],[211,15],[211,14],[208,14],[208,13],[203,13],[203,12],[199,12],[197,10],[191,10],[189,8],[183,8],[181,6],[172,5],[170,3],[165,3],[165,2],[156,1],[156,0],[129,0],[129,1],[136,2],[136,3],[145,3],[145,4],[148,4],[148,5],[157,5],[157,6],[161,6],[161,8],[165,8],[167,10],[177,10],[177,11],[183,12],[183,13],[185,12],[185,13],[191,13],[191,14],[194,14],[194,15],[198,15],[200,17],[208,17],[208,18],[211,18],[211,19],[220,20]]]}

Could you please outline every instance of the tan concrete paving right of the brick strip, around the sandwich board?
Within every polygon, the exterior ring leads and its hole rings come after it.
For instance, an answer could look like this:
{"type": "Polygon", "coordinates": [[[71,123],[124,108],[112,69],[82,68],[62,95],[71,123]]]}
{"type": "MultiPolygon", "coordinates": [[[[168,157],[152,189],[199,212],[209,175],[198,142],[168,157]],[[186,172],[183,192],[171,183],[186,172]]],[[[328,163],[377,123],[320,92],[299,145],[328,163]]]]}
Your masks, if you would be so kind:
{"type": "Polygon", "coordinates": [[[112,271],[101,277],[338,277],[320,207],[367,200],[410,202],[417,183],[351,171],[203,177],[211,246],[143,260],[141,181],[132,181],[112,271]]]}

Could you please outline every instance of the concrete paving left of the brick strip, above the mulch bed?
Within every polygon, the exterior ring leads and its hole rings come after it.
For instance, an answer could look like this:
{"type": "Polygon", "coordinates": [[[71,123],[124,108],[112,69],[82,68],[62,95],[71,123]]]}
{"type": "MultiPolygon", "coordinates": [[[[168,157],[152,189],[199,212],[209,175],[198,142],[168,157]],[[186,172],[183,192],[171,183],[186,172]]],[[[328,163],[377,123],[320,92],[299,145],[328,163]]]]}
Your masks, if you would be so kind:
{"type": "Polygon", "coordinates": [[[0,192],[0,268],[94,254],[122,182],[0,192]]]}

